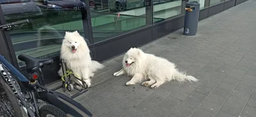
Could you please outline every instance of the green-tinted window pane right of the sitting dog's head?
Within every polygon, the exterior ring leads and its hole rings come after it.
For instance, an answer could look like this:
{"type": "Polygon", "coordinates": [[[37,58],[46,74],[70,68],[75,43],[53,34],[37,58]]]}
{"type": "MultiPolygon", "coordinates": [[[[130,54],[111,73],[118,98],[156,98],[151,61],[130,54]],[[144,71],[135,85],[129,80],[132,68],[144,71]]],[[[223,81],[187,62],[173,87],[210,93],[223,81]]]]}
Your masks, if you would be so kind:
{"type": "Polygon", "coordinates": [[[95,43],[151,25],[147,24],[144,0],[95,0],[89,2],[95,43]]]}

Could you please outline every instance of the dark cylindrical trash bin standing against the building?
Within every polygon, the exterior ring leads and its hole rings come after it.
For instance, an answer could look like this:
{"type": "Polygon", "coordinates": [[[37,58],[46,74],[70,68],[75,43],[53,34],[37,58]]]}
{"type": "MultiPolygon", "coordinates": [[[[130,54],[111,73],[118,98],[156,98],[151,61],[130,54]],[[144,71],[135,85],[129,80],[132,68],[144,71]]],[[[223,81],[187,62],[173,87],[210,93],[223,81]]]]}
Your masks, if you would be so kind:
{"type": "Polygon", "coordinates": [[[200,3],[192,1],[186,3],[186,13],[184,21],[184,35],[195,36],[198,25],[200,3]]]}

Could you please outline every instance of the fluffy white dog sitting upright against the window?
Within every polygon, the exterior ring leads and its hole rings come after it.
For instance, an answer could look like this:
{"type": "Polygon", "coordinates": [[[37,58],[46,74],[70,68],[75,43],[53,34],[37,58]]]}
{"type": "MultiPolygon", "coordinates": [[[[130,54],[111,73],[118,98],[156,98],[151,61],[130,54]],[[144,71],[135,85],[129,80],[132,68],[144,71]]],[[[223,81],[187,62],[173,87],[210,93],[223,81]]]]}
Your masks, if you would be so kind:
{"type": "MultiPolygon", "coordinates": [[[[60,59],[64,59],[68,69],[79,76],[79,79],[85,81],[88,87],[91,86],[90,77],[93,77],[93,72],[104,67],[99,62],[92,60],[86,41],[77,31],[65,32],[60,59]]],[[[63,76],[62,69],[58,73],[63,76]]],[[[79,83],[82,84],[81,81],[79,83]]]]}

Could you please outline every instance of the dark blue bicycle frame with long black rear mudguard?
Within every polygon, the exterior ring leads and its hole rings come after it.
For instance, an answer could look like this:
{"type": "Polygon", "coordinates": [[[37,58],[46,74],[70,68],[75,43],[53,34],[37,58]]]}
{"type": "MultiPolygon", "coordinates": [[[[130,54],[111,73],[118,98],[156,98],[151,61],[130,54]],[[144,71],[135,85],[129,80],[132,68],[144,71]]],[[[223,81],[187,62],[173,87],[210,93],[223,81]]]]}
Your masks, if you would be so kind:
{"type": "Polygon", "coordinates": [[[8,85],[12,88],[13,92],[15,93],[15,95],[17,95],[17,98],[20,100],[22,105],[26,107],[29,117],[40,116],[40,113],[38,112],[37,102],[36,102],[37,99],[43,100],[48,104],[52,104],[53,106],[58,107],[59,109],[67,113],[67,115],[69,116],[74,116],[74,117],[93,116],[93,114],[90,113],[90,111],[88,111],[86,108],[84,108],[81,104],[79,104],[75,100],[71,99],[70,97],[67,97],[67,95],[54,92],[51,90],[47,90],[47,88],[45,88],[44,86],[39,85],[37,81],[35,83],[31,83],[23,74],[21,74],[15,67],[13,67],[13,65],[10,64],[8,60],[4,59],[4,57],[1,54],[0,54],[0,64],[3,65],[3,70],[7,75],[7,77],[4,77],[6,79],[6,83],[8,83],[8,85]],[[28,92],[31,93],[30,96],[31,96],[31,99],[33,100],[35,111],[31,109],[28,100],[23,95],[23,93],[20,92],[19,88],[15,85],[12,77],[10,76],[10,74],[8,74],[8,72],[12,72],[12,74],[17,79],[19,79],[19,81],[22,81],[22,83],[27,88],[28,92]],[[41,88],[44,91],[38,92],[36,90],[36,87],[41,88]]]}

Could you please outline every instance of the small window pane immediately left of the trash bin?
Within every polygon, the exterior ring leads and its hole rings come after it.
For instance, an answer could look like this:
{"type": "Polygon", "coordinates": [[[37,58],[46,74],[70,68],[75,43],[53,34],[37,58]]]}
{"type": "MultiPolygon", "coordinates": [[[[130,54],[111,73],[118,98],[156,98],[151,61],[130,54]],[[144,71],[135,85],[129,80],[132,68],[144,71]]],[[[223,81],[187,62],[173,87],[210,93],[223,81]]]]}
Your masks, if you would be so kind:
{"type": "Polygon", "coordinates": [[[161,19],[155,23],[182,15],[182,0],[153,0],[153,4],[153,17],[161,19]]]}

